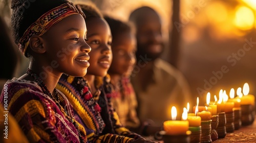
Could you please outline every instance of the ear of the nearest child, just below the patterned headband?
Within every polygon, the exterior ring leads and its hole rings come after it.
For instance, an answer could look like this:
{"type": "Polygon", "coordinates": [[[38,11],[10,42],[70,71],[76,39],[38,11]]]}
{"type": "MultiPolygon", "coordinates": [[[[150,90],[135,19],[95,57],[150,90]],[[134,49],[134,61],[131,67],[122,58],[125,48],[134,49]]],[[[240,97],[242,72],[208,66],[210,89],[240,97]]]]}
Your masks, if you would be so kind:
{"type": "Polygon", "coordinates": [[[29,46],[31,50],[35,53],[43,54],[46,52],[46,49],[44,47],[44,39],[42,39],[38,35],[33,35],[29,39],[29,46]]]}

